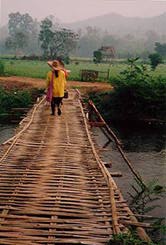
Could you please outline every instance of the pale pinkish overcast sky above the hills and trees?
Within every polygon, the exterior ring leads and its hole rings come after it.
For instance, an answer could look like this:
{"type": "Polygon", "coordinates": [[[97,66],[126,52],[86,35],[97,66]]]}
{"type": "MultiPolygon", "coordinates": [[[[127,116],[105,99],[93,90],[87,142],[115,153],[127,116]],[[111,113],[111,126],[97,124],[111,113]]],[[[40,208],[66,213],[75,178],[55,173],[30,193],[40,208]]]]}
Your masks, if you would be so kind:
{"type": "Polygon", "coordinates": [[[166,12],[166,0],[0,0],[0,22],[8,14],[29,13],[38,20],[54,15],[60,22],[74,22],[107,13],[151,17],[166,12]]]}

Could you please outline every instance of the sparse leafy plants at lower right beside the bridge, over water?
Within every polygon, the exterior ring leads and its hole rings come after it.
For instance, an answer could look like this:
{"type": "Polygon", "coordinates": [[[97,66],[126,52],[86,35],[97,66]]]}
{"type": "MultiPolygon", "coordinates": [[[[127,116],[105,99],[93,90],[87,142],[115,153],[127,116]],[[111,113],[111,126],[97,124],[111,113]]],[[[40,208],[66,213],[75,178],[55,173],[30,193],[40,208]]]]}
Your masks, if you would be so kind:
{"type": "MultiPolygon", "coordinates": [[[[146,222],[148,219],[146,215],[158,207],[158,205],[153,203],[165,195],[165,189],[155,179],[149,181],[146,186],[135,179],[132,190],[132,193],[129,193],[131,198],[130,206],[134,213],[141,215],[139,220],[146,222]]],[[[148,219],[148,221],[152,224],[152,228],[149,230],[150,237],[155,242],[161,242],[165,233],[164,229],[166,229],[163,224],[164,218],[156,217],[151,220],[148,219]]]]}

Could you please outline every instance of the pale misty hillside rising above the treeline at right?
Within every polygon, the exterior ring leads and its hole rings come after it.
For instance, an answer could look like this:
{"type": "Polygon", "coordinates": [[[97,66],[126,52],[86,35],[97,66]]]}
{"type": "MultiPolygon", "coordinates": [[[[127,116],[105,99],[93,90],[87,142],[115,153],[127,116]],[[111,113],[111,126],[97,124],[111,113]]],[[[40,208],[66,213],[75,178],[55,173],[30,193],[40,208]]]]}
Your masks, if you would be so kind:
{"type": "Polygon", "coordinates": [[[87,26],[101,28],[111,34],[144,34],[151,30],[160,35],[166,35],[166,13],[162,15],[140,18],[140,17],[125,17],[119,14],[107,14],[93,17],[84,21],[67,24],[67,27],[78,30],[84,29],[87,26]]]}

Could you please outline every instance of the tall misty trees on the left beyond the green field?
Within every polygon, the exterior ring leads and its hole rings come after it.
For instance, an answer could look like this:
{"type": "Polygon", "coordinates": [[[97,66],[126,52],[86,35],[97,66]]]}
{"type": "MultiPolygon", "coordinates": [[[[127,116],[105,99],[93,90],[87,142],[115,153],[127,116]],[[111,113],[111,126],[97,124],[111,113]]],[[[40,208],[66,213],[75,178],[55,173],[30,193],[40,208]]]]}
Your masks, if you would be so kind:
{"type": "Polygon", "coordinates": [[[68,57],[76,48],[78,35],[54,22],[49,16],[38,22],[29,14],[11,13],[6,30],[0,40],[1,54],[15,57],[31,56],[45,59],[68,57]]]}

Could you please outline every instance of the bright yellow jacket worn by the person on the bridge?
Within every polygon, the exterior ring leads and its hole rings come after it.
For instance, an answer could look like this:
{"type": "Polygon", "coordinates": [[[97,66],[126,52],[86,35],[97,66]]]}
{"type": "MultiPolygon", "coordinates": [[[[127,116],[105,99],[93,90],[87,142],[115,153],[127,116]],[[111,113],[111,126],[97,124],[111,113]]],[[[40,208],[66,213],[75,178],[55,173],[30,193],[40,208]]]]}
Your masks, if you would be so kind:
{"type": "MultiPolygon", "coordinates": [[[[49,87],[51,80],[52,80],[52,71],[49,71],[47,73],[47,88],[49,87]]],[[[59,70],[58,77],[56,77],[54,74],[52,96],[53,97],[64,97],[65,88],[66,88],[65,73],[64,71],[59,70]]]]}

